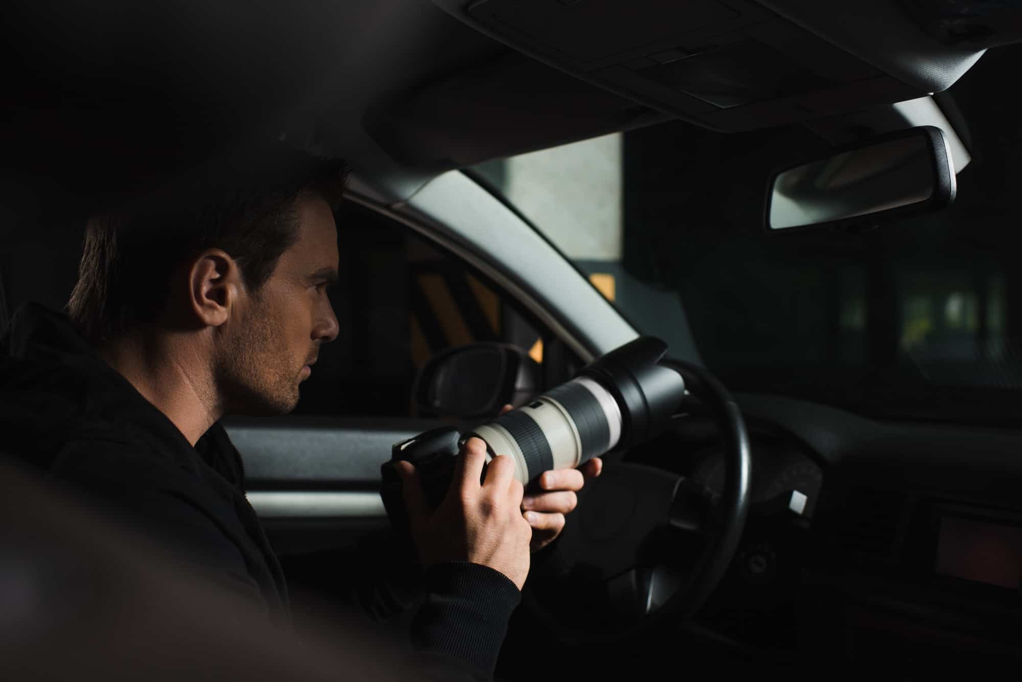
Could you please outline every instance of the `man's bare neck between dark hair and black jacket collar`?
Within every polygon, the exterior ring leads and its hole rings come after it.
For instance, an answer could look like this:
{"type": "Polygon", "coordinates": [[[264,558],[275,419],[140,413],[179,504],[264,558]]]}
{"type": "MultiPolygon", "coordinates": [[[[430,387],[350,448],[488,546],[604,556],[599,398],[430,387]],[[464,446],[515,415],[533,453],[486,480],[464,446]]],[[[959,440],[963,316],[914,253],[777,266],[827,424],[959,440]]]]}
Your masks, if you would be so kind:
{"type": "Polygon", "coordinates": [[[194,445],[220,419],[213,378],[184,340],[126,336],[99,349],[106,362],[194,445]]]}

